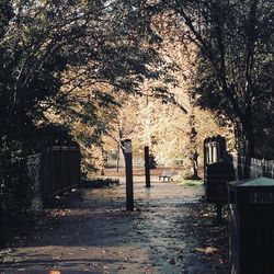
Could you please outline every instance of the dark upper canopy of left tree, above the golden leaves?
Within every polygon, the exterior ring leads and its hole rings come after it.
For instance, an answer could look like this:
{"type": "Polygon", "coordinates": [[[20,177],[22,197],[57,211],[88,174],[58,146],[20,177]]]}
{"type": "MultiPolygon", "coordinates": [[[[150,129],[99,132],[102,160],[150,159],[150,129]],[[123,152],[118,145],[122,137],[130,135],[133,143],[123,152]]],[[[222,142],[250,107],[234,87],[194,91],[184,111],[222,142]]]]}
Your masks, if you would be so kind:
{"type": "MultiPolygon", "coordinates": [[[[2,2],[1,136],[30,140],[27,126],[87,82],[128,92],[142,75],[156,77],[146,68],[155,54],[144,43],[150,34],[141,2],[2,2]],[[68,71],[73,75],[64,82],[68,71]],[[69,88],[59,93],[64,84],[69,88]]],[[[112,100],[106,93],[98,99],[112,100]]]]}

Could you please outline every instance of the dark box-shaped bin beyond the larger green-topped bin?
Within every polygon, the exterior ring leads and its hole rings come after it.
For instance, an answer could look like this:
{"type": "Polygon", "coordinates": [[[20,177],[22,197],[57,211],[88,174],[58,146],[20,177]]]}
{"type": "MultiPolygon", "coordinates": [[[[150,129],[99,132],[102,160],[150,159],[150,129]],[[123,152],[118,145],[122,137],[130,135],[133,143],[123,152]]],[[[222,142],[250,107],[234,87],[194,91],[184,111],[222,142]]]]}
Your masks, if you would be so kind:
{"type": "Polygon", "coordinates": [[[208,203],[228,202],[227,183],[236,180],[235,169],[229,162],[214,162],[205,170],[205,194],[208,203]]]}

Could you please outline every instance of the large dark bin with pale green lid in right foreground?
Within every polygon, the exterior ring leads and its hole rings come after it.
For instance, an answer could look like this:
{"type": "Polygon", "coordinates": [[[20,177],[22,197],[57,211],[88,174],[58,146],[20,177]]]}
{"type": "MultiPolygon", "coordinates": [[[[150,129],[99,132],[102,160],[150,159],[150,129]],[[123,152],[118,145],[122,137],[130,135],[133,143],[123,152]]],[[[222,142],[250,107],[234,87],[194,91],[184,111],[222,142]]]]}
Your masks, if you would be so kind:
{"type": "Polygon", "coordinates": [[[231,274],[274,273],[274,180],[228,183],[231,274]]]}

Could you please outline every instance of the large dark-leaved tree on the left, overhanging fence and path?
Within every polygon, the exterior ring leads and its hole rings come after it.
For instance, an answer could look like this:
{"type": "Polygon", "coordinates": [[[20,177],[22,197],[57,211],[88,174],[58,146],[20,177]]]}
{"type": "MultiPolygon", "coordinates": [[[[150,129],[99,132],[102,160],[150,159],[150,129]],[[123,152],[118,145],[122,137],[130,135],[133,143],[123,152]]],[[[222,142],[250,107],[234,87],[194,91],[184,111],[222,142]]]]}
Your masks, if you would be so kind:
{"type": "Polygon", "coordinates": [[[0,192],[4,185],[9,208],[19,196],[30,201],[26,157],[52,123],[47,111],[59,112],[66,128],[90,118],[91,138],[76,137],[102,148],[109,119],[100,119],[107,112],[99,109],[114,103],[115,92],[137,91],[144,76],[156,77],[146,66],[156,54],[144,43],[150,36],[149,14],[140,5],[124,0],[0,1],[0,192]],[[83,91],[91,93],[88,102],[81,100],[83,91]]]}

